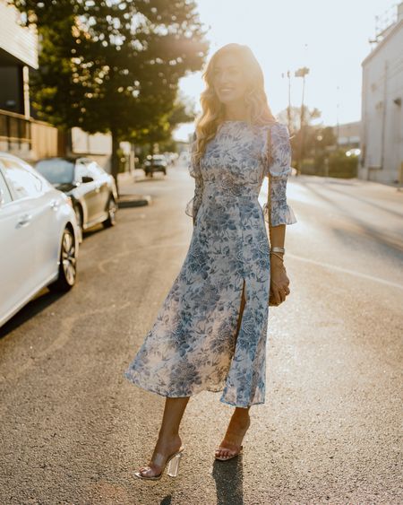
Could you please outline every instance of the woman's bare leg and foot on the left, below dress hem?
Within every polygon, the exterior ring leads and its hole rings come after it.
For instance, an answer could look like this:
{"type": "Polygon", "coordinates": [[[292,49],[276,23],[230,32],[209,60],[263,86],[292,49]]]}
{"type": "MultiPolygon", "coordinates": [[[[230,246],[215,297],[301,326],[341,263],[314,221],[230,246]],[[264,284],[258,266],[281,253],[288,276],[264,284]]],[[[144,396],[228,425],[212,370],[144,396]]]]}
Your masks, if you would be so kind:
{"type": "Polygon", "coordinates": [[[157,440],[149,465],[139,468],[141,475],[146,477],[159,475],[167,461],[167,457],[181,447],[182,440],[179,437],[179,426],[188,401],[189,396],[180,398],[167,397],[159,429],[159,439],[157,440]]]}

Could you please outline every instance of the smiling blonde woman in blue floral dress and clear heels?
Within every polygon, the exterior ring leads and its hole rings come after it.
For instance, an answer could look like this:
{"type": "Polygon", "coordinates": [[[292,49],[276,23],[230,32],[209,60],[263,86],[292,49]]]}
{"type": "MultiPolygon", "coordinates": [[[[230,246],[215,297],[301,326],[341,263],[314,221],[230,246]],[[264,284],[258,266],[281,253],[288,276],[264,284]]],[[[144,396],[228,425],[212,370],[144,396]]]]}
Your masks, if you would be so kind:
{"type": "Polygon", "coordinates": [[[250,48],[220,48],[203,79],[189,169],[195,189],[185,208],[193,217],[192,240],[153,327],[124,372],[137,386],[166,396],[149,465],[135,474],[143,479],[159,479],[168,462],[168,475],[177,474],[184,449],[179,425],[189,397],[201,390],[221,391],[220,401],[235,407],[215,457],[240,453],[249,409],[265,401],[269,298],[276,305],[290,292],[284,240],[286,224],[296,216],[286,199],[287,126],[270,112],[262,69],[250,48]],[[269,172],[271,213],[258,202],[269,172]]]}

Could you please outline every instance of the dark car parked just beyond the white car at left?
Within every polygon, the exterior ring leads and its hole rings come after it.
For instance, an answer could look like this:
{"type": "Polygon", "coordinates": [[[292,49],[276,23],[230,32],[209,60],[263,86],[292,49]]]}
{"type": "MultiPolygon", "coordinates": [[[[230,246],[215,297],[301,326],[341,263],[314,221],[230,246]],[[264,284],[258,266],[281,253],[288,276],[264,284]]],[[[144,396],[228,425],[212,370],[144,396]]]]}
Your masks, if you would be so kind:
{"type": "Polygon", "coordinates": [[[57,189],[71,196],[81,231],[102,222],[116,224],[117,190],[115,179],[96,161],[88,158],[47,158],[35,168],[57,189]]]}

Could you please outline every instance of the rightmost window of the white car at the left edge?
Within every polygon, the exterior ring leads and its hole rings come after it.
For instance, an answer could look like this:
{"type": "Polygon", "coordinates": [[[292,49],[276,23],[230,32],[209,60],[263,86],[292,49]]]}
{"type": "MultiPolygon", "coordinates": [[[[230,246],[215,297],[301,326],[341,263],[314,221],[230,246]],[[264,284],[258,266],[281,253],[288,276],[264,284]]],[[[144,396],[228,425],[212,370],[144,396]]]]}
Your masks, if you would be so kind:
{"type": "Polygon", "coordinates": [[[28,168],[21,163],[3,158],[4,176],[8,185],[13,188],[16,198],[35,197],[43,194],[43,184],[28,168]]]}

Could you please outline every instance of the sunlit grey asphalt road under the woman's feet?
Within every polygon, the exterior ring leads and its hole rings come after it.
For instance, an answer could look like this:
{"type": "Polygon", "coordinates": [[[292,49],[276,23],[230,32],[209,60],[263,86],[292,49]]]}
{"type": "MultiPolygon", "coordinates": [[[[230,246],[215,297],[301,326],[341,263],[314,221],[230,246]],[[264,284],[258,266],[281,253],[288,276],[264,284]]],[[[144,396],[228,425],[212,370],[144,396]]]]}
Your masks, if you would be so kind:
{"type": "Polygon", "coordinates": [[[186,255],[193,179],[178,168],[121,191],[153,203],[88,232],[74,289],[43,290],[0,329],[0,503],[402,503],[403,192],[290,180],[291,293],[270,308],[267,399],[244,456],[214,461],[232,407],[203,391],[179,476],[146,483],[133,471],[164,398],[123,371],[186,255]]]}

